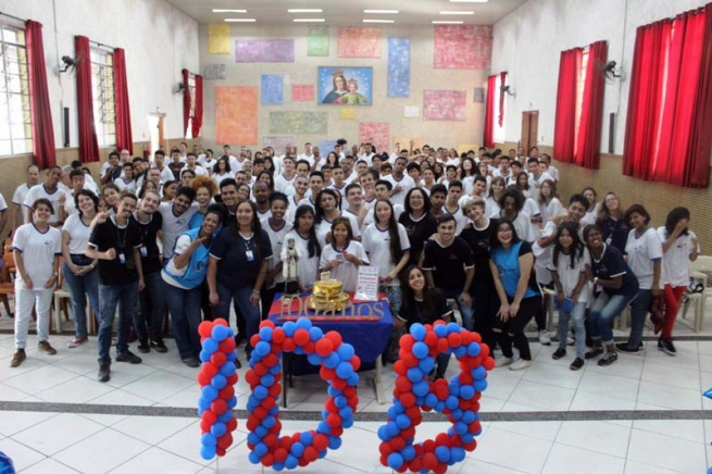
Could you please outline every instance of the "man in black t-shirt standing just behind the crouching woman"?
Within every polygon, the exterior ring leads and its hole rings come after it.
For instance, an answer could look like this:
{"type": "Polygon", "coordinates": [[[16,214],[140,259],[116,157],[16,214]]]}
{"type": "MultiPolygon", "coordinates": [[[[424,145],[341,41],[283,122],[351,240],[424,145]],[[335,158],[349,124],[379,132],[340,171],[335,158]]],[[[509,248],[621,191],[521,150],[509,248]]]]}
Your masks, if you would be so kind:
{"type": "Polygon", "coordinates": [[[475,262],[467,242],[455,237],[455,226],[451,214],[438,219],[437,237],[425,244],[423,271],[430,286],[458,302],[463,326],[473,330],[470,285],[475,275],[475,262]]]}

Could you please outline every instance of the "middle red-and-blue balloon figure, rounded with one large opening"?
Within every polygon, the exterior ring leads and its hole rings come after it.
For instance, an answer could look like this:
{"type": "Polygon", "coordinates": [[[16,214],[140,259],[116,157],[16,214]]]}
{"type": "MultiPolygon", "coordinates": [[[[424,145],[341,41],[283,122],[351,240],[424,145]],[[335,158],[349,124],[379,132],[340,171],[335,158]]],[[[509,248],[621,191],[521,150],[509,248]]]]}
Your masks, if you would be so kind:
{"type": "Polygon", "coordinates": [[[343,429],[353,425],[359,404],[357,371],[361,360],[353,347],[343,342],[337,332],[324,334],[307,317],[287,322],[283,327],[264,321],[250,344],[254,350],[245,376],[252,389],[247,402],[250,462],[275,471],[291,470],[324,458],[327,449],[338,449],[343,429]],[[310,363],[321,366],[320,375],[328,383],[322,421],[315,429],[291,436],[280,436],[277,401],[282,394],[283,352],[307,354],[310,363]]]}

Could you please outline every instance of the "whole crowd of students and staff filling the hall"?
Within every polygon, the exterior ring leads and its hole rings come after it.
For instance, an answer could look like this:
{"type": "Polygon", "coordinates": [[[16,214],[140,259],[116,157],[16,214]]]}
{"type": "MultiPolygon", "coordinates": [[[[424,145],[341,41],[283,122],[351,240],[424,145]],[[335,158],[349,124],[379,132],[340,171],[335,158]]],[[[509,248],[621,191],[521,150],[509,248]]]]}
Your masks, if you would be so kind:
{"type": "MultiPolygon", "coordinates": [[[[658,348],[676,353],[673,326],[689,283],[687,262],[698,253],[687,209],[673,209],[655,230],[642,205],[624,210],[614,192],[599,202],[585,188],[565,207],[559,172],[536,147],[460,155],[396,144],[389,154],[341,139],[325,154],[311,144],[280,155],[271,147],[254,153],[240,147],[233,155],[226,145],[217,159],[182,144],[170,154],[166,163],[162,150],[151,160],[112,152],[98,183],[79,162],[48,170],[45,183],[28,167],[12,201],[12,366],[25,359],[33,305],[39,350],[55,353],[48,333],[60,257],[75,320],[70,348],[88,340],[88,298],[99,319],[101,382],[111,377],[115,314],[116,362],[141,362],[129,350],[132,334],[141,353],[167,351],[166,309],[188,366],[200,364],[200,322],[229,320],[230,310],[249,358],[250,336],[285,288],[287,242],[300,255],[304,291],[323,271],[354,291],[358,267],[377,265],[379,290],[396,316],[391,361],[410,325],[453,320],[451,300],[463,326],[499,349],[498,366],[526,369],[532,320],[539,341],[551,345],[542,288],[552,290],[560,315],[552,357],[566,357],[575,344],[572,370],[639,352],[647,312],[661,298],[667,310],[655,320],[658,348]],[[628,305],[629,338],[614,344],[612,320],[628,305]]],[[[447,363],[438,358],[433,376],[442,377],[447,363]]]]}

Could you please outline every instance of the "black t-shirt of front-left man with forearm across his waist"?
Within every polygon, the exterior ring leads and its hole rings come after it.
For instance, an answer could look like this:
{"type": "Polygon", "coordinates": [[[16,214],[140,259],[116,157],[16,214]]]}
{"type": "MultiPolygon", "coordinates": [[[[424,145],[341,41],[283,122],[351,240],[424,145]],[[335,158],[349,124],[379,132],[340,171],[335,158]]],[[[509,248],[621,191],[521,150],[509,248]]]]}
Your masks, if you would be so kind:
{"type": "Polygon", "coordinates": [[[135,222],[120,228],[115,217],[97,224],[89,237],[89,245],[100,252],[116,250],[114,260],[99,259],[99,280],[102,285],[128,285],[136,282],[138,275],[134,266],[134,248],[141,246],[141,233],[135,222]],[[124,263],[122,263],[122,257],[124,263]]]}

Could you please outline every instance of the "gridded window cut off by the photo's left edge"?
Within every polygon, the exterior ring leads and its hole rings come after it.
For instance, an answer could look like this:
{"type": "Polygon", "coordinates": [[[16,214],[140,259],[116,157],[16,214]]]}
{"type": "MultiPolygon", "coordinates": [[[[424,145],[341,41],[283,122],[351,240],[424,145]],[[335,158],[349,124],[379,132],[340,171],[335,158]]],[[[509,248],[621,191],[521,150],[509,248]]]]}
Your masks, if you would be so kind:
{"type": "Polygon", "coordinates": [[[0,23],[0,157],[32,152],[25,30],[0,23]]]}

